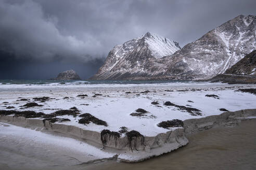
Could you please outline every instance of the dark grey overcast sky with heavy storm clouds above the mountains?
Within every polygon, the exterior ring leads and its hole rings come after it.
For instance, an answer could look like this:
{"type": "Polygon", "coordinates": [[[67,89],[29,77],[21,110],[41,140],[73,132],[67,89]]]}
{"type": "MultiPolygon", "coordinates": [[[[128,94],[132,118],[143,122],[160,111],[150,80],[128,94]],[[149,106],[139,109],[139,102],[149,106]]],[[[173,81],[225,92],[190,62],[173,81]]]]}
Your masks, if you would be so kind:
{"type": "Polygon", "coordinates": [[[92,76],[113,46],[146,32],[183,47],[255,0],[0,0],[0,79],[47,79],[67,69],[92,76]]]}

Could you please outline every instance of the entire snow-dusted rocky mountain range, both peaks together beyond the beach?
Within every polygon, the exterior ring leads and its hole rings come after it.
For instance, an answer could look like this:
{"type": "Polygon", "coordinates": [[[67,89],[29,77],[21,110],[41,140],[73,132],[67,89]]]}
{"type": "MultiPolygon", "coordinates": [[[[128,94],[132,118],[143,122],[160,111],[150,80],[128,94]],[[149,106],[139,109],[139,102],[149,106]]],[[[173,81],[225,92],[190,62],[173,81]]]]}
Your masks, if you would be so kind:
{"type": "Polygon", "coordinates": [[[240,15],[181,50],[158,37],[147,33],[114,47],[92,79],[197,80],[223,74],[256,49],[256,17],[240,15]]]}

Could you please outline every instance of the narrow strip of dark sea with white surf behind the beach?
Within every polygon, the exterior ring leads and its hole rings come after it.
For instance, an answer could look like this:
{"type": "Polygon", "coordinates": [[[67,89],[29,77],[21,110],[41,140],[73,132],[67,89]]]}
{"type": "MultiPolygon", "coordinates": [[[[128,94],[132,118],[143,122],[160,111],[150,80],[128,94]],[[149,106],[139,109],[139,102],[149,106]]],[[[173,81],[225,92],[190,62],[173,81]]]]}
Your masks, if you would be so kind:
{"type": "Polygon", "coordinates": [[[54,90],[54,89],[117,89],[117,88],[187,88],[187,87],[226,86],[220,82],[190,81],[190,80],[0,80],[0,91],[20,90],[54,90]]]}

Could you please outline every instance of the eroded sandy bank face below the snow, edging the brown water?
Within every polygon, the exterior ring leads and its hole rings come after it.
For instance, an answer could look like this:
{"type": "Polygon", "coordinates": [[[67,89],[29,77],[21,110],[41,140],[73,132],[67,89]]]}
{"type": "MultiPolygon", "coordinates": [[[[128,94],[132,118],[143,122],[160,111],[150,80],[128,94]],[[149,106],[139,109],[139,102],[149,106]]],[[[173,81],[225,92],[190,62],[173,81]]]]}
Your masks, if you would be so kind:
{"type": "MultiPolygon", "coordinates": [[[[163,153],[171,152],[177,148],[185,146],[188,143],[187,135],[197,133],[203,130],[208,130],[220,126],[235,126],[241,120],[256,118],[256,109],[238,110],[235,112],[224,112],[221,115],[208,116],[199,119],[184,120],[184,129],[168,131],[167,133],[158,134],[155,137],[145,138],[145,143],[142,145],[140,140],[133,139],[136,152],[131,152],[128,146],[127,137],[114,138],[109,136],[106,144],[106,151],[118,154],[117,161],[121,162],[139,162],[151,157],[159,156],[163,153]],[[137,148],[136,148],[137,145],[137,148]],[[140,146],[140,147],[139,147],[140,146]]],[[[23,117],[1,116],[2,122],[15,124],[22,127],[30,127],[32,129],[40,128],[50,132],[58,132],[69,137],[79,138],[80,140],[88,140],[93,146],[100,146],[100,133],[83,130],[79,127],[61,124],[61,123],[45,123],[41,119],[26,119],[23,117]]]]}

